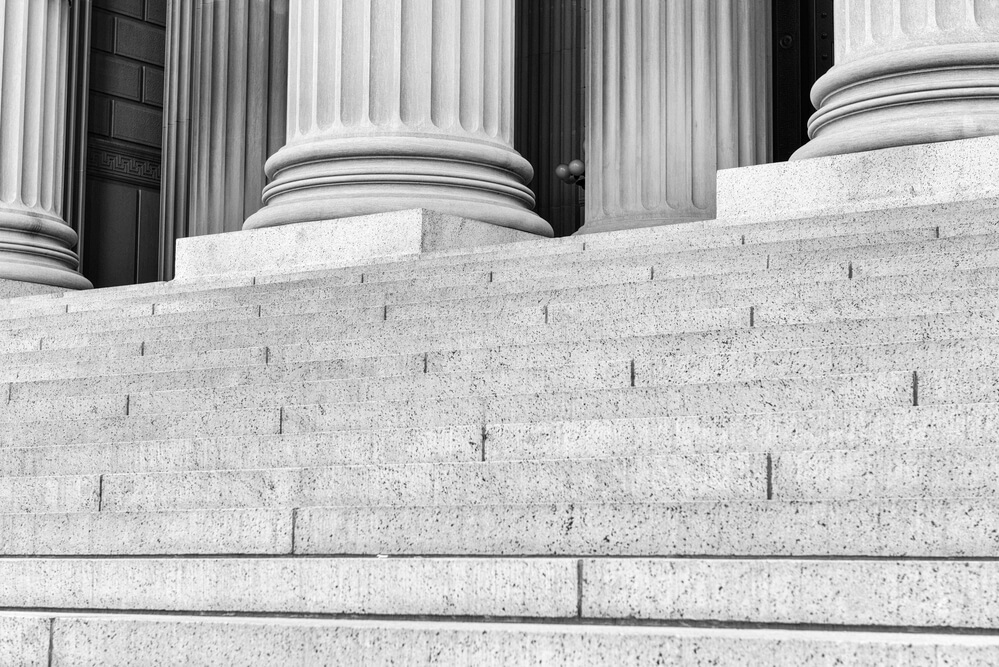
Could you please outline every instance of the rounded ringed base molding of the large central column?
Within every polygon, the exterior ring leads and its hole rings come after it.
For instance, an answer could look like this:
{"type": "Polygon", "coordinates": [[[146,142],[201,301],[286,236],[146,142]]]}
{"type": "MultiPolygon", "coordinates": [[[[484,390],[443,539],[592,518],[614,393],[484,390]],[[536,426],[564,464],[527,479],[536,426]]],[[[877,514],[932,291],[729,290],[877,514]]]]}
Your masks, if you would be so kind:
{"type": "Polygon", "coordinates": [[[266,206],[243,229],[424,208],[552,236],[531,209],[530,165],[515,151],[448,137],[292,143],[267,163],[266,206]]]}

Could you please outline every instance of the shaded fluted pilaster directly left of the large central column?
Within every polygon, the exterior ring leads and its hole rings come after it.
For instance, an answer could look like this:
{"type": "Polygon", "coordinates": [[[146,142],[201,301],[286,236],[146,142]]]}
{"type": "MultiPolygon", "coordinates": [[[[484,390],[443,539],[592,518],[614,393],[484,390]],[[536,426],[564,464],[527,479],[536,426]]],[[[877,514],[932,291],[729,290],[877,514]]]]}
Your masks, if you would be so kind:
{"type": "Polygon", "coordinates": [[[234,232],[285,141],[288,0],[170,0],[161,278],[178,238],[234,232]]]}

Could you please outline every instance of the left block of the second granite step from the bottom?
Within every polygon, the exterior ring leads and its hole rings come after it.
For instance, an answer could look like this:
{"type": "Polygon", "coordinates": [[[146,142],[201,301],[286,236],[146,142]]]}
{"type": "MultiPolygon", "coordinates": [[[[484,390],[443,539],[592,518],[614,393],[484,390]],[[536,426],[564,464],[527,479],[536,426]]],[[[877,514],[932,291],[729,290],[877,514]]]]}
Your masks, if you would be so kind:
{"type": "Polygon", "coordinates": [[[3,607],[572,618],[576,605],[574,560],[0,561],[3,607]]]}

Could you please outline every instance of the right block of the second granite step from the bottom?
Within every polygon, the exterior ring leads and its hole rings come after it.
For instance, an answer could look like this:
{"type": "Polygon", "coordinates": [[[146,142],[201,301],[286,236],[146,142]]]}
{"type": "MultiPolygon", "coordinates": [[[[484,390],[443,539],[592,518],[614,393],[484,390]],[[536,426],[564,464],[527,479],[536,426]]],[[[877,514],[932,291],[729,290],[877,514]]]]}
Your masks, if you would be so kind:
{"type": "Polygon", "coordinates": [[[999,565],[992,562],[601,559],[582,568],[584,617],[999,625],[999,591],[991,585],[999,565]]]}

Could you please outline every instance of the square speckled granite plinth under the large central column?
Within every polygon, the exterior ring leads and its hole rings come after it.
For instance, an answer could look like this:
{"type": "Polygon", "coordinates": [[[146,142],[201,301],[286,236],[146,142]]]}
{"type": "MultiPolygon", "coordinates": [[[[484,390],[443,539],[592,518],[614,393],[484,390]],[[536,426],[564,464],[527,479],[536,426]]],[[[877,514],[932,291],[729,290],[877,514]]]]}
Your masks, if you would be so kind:
{"type": "Polygon", "coordinates": [[[544,237],[410,209],[179,239],[175,277],[298,273],[540,238],[544,237]]]}

